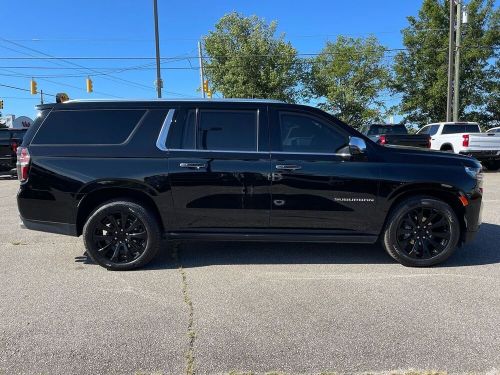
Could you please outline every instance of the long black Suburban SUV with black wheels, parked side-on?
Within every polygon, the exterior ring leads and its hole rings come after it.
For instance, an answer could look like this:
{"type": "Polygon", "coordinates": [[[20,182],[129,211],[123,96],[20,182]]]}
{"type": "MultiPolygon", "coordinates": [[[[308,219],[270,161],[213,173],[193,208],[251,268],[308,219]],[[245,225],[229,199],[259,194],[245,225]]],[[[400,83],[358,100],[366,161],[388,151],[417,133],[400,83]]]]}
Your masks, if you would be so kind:
{"type": "Polygon", "coordinates": [[[29,229],[83,235],[109,269],[161,240],[381,242],[408,266],[479,228],[475,159],[379,146],[319,109],[268,100],[69,101],[38,107],[18,149],[29,229]]]}

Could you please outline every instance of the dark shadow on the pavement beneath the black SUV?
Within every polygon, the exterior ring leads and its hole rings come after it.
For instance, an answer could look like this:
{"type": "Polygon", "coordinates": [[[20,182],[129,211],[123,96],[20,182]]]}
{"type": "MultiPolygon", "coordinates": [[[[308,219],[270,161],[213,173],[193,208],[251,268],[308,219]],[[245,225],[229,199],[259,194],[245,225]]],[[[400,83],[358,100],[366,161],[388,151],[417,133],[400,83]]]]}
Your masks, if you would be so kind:
{"type": "MultiPolygon", "coordinates": [[[[500,225],[483,223],[476,238],[458,248],[445,263],[435,267],[464,267],[500,263],[500,225]]],[[[160,254],[142,270],[212,265],[273,264],[395,264],[380,244],[194,242],[178,244],[178,261],[172,257],[173,242],[165,241],[160,254]]],[[[85,254],[75,262],[95,264],[85,254]]]]}

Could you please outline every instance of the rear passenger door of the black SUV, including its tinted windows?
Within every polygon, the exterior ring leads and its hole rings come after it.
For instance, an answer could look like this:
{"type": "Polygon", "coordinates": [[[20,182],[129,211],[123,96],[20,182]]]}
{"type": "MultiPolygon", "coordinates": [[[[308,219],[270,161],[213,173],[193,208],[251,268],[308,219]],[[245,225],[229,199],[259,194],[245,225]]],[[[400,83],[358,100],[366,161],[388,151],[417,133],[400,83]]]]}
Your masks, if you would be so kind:
{"type": "Polygon", "coordinates": [[[267,108],[200,104],[176,113],[168,136],[177,229],[267,228],[267,108]]]}

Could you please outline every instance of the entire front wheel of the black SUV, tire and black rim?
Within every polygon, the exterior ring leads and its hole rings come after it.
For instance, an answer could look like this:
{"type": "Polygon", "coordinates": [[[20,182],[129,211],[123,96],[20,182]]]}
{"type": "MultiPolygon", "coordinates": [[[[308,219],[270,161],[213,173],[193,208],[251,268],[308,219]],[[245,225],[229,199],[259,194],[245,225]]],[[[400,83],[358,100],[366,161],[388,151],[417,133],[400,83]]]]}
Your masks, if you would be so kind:
{"type": "Polygon", "coordinates": [[[460,224],[453,209],[431,197],[413,197],[392,210],[383,233],[383,246],[407,267],[444,262],[455,251],[460,224]]]}

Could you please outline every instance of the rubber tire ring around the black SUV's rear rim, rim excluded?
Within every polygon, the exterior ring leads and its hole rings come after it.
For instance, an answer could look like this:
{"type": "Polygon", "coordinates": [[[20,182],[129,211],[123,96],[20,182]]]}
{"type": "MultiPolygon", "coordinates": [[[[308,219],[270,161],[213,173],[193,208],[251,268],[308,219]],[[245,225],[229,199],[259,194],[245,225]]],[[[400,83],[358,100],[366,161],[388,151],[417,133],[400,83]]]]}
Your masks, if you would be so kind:
{"type": "Polygon", "coordinates": [[[156,254],[159,246],[159,228],[152,216],[140,205],[128,201],[108,202],[97,208],[90,216],[83,228],[83,240],[87,253],[92,260],[109,270],[129,270],[143,266],[148,263],[156,254]],[[144,252],[132,262],[120,264],[111,262],[109,259],[101,257],[97,252],[93,241],[93,233],[95,224],[102,220],[106,215],[116,212],[117,210],[125,210],[137,216],[144,228],[146,229],[147,239],[144,252]]]}

